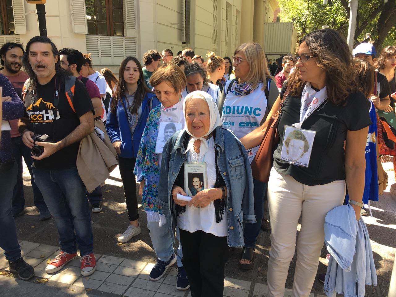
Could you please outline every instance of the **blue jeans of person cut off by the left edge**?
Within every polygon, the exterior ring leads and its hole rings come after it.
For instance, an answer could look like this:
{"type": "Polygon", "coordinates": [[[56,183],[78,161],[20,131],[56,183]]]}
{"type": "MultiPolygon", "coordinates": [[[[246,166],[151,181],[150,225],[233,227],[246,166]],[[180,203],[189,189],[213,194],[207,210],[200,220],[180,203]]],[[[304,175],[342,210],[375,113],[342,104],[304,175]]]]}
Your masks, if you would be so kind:
{"type": "Polygon", "coordinates": [[[14,161],[8,170],[0,170],[0,247],[6,259],[15,261],[21,257],[17,228],[11,213],[12,190],[17,182],[18,166],[14,161]]]}

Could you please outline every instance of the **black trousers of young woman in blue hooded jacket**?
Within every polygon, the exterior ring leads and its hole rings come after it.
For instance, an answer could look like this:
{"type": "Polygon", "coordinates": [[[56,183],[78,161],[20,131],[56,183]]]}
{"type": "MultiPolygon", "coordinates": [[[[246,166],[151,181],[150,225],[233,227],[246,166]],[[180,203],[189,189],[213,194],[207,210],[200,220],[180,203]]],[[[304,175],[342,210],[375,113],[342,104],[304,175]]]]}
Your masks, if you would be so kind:
{"type": "Polygon", "coordinates": [[[139,218],[139,213],[137,212],[136,180],[133,174],[135,163],[136,159],[122,158],[118,155],[118,168],[120,169],[122,183],[124,184],[129,221],[135,221],[139,218]]]}

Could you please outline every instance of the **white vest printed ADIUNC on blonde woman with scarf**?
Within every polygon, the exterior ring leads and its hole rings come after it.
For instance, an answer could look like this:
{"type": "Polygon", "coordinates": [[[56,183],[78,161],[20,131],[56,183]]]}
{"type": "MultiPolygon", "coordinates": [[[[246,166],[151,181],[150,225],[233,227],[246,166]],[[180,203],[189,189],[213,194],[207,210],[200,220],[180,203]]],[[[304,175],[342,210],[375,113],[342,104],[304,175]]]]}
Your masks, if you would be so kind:
{"type": "MultiPolygon", "coordinates": [[[[231,80],[228,80],[224,88],[227,90],[231,80]]],[[[261,90],[262,83],[249,95],[237,96],[229,91],[224,100],[223,128],[233,131],[238,138],[260,126],[261,120],[265,116],[267,109],[267,98],[264,91],[261,90]]],[[[246,150],[249,162],[251,162],[257,153],[259,147],[246,150]]]]}

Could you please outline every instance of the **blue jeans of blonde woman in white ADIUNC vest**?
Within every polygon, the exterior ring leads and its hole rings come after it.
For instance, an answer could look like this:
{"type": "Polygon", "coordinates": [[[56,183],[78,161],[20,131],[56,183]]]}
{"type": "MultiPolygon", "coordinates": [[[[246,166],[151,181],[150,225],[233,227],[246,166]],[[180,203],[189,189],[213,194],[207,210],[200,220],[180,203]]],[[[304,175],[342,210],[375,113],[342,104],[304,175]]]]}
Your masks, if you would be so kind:
{"type": "Polygon", "coordinates": [[[253,179],[253,198],[254,198],[254,214],[256,215],[256,223],[245,224],[244,226],[244,242],[245,247],[255,247],[257,236],[261,230],[261,221],[264,216],[264,196],[267,192],[267,184],[253,179]]]}

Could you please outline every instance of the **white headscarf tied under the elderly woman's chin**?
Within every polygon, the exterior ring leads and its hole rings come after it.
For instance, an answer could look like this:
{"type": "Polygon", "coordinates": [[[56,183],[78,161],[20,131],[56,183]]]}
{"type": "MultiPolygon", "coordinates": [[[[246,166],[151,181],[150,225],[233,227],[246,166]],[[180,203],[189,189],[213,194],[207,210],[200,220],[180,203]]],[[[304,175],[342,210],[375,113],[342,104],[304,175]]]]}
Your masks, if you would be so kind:
{"type": "Polygon", "coordinates": [[[212,96],[204,91],[193,91],[185,97],[183,102],[184,119],[186,119],[186,102],[188,102],[192,98],[202,99],[205,100],[206,103],[208,103],[210,124],[209,124],[208,132],[202,137],[195,137],[194,135],[192,135],[191,131],[188,130],[187,124],[185,124],[184,129],[187,131],[188,134],[191,135],[191,139],[188,142],[186,152],[188,152],[188,150],[190,149],[193,149],[194,141],[200,139],[201,140],[200,154],[205,154],[208,151],[208,141],[206,141],[204,137],[212,133],[213,130],[216,129],[218,126],[223,125],[223,121],[221,120],[219,109],[217,108],[215,101],[213,101],[212,96]]]}

